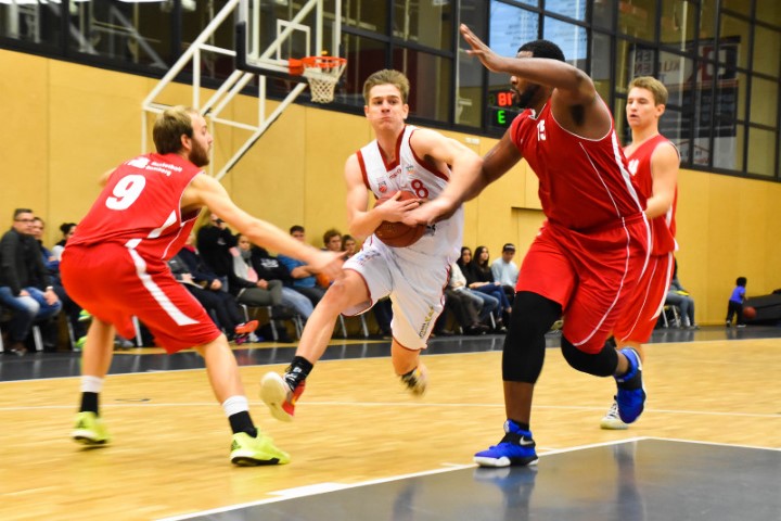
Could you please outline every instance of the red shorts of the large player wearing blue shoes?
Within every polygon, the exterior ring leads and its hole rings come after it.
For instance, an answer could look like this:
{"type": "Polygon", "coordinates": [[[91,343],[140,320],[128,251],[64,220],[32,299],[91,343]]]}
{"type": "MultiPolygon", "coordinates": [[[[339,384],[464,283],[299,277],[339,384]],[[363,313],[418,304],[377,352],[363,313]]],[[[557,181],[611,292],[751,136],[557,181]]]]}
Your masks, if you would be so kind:
{"type": "Polygon", "coordinates": [[[648,260],[648,221],[579,233],[546,223],[521,266],[516,291],[561,304],[564,336],[598,353],[648,260]]]}

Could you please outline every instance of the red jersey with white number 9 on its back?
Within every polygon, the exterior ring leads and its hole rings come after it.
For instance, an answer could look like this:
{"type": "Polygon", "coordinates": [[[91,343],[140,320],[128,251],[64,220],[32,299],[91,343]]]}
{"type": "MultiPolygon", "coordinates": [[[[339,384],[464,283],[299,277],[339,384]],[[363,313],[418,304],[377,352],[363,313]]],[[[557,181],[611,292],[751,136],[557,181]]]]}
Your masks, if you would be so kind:
{"type": "Polygon", "coordinates": [[[119,165],[67,245],[117,243],[166,262],[184,245],[197,212],[181,215],[184,189],[201,168],[177,154],[140,155],[119,165]]]}

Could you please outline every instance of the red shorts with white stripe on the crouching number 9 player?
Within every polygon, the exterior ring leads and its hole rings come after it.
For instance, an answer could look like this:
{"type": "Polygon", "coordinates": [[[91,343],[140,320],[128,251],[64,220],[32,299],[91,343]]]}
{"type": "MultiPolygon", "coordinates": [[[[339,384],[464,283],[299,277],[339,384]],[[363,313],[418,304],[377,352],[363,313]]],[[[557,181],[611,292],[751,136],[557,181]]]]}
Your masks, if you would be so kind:
{"type": "Polygon", "coordinates": [[[148,262],[135,250],[114,243],[68,246],[60,271],[67,294],[125,338],[135,336],[133,316],[168,353],[221,334],[166,263],[148,262]]]}

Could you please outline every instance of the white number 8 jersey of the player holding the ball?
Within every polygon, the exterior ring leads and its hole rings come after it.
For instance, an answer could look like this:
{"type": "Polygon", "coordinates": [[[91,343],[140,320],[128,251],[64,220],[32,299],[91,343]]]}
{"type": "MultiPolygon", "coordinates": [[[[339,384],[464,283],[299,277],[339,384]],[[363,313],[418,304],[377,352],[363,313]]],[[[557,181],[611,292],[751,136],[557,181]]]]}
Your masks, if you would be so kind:
{"type": "MultiPolygon", "coordinates": [[[[405,126],[396,143],[396,161],[392,164],[385,163],[376,140],[358,151],[363,182],[377,199],[386,193],[404,190],[414,193],[420,199],[432,200],[447,187],[450,169],[439,171],[412,151],[410,137],[415,130],[413,126],[405,126]]],[[[431,260],[433,256],[444,256],[449,266],[458,258],[462,237],[463,208],[459,207],[449,219],[428,227],[423,237],[411,246],[393,250],[399,257],[414,264],[428,264],[426,258],[431,260]]],[[[380,242],[374,236],[367,241],[380,242]]]]}

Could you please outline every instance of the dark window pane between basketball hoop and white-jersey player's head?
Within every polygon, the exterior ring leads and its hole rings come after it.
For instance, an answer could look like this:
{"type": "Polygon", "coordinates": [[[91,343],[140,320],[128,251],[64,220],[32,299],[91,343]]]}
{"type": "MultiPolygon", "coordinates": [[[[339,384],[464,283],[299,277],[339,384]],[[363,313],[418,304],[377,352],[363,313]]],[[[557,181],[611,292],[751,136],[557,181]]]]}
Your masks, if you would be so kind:
{"type": "Polygon", "coordinates": [[[347,59],[347,67],[334,100],[363,106],[363,81],[372,73],[387,67],[387,46],[371,38],[342,33],[342,52],[347,59]]]}

